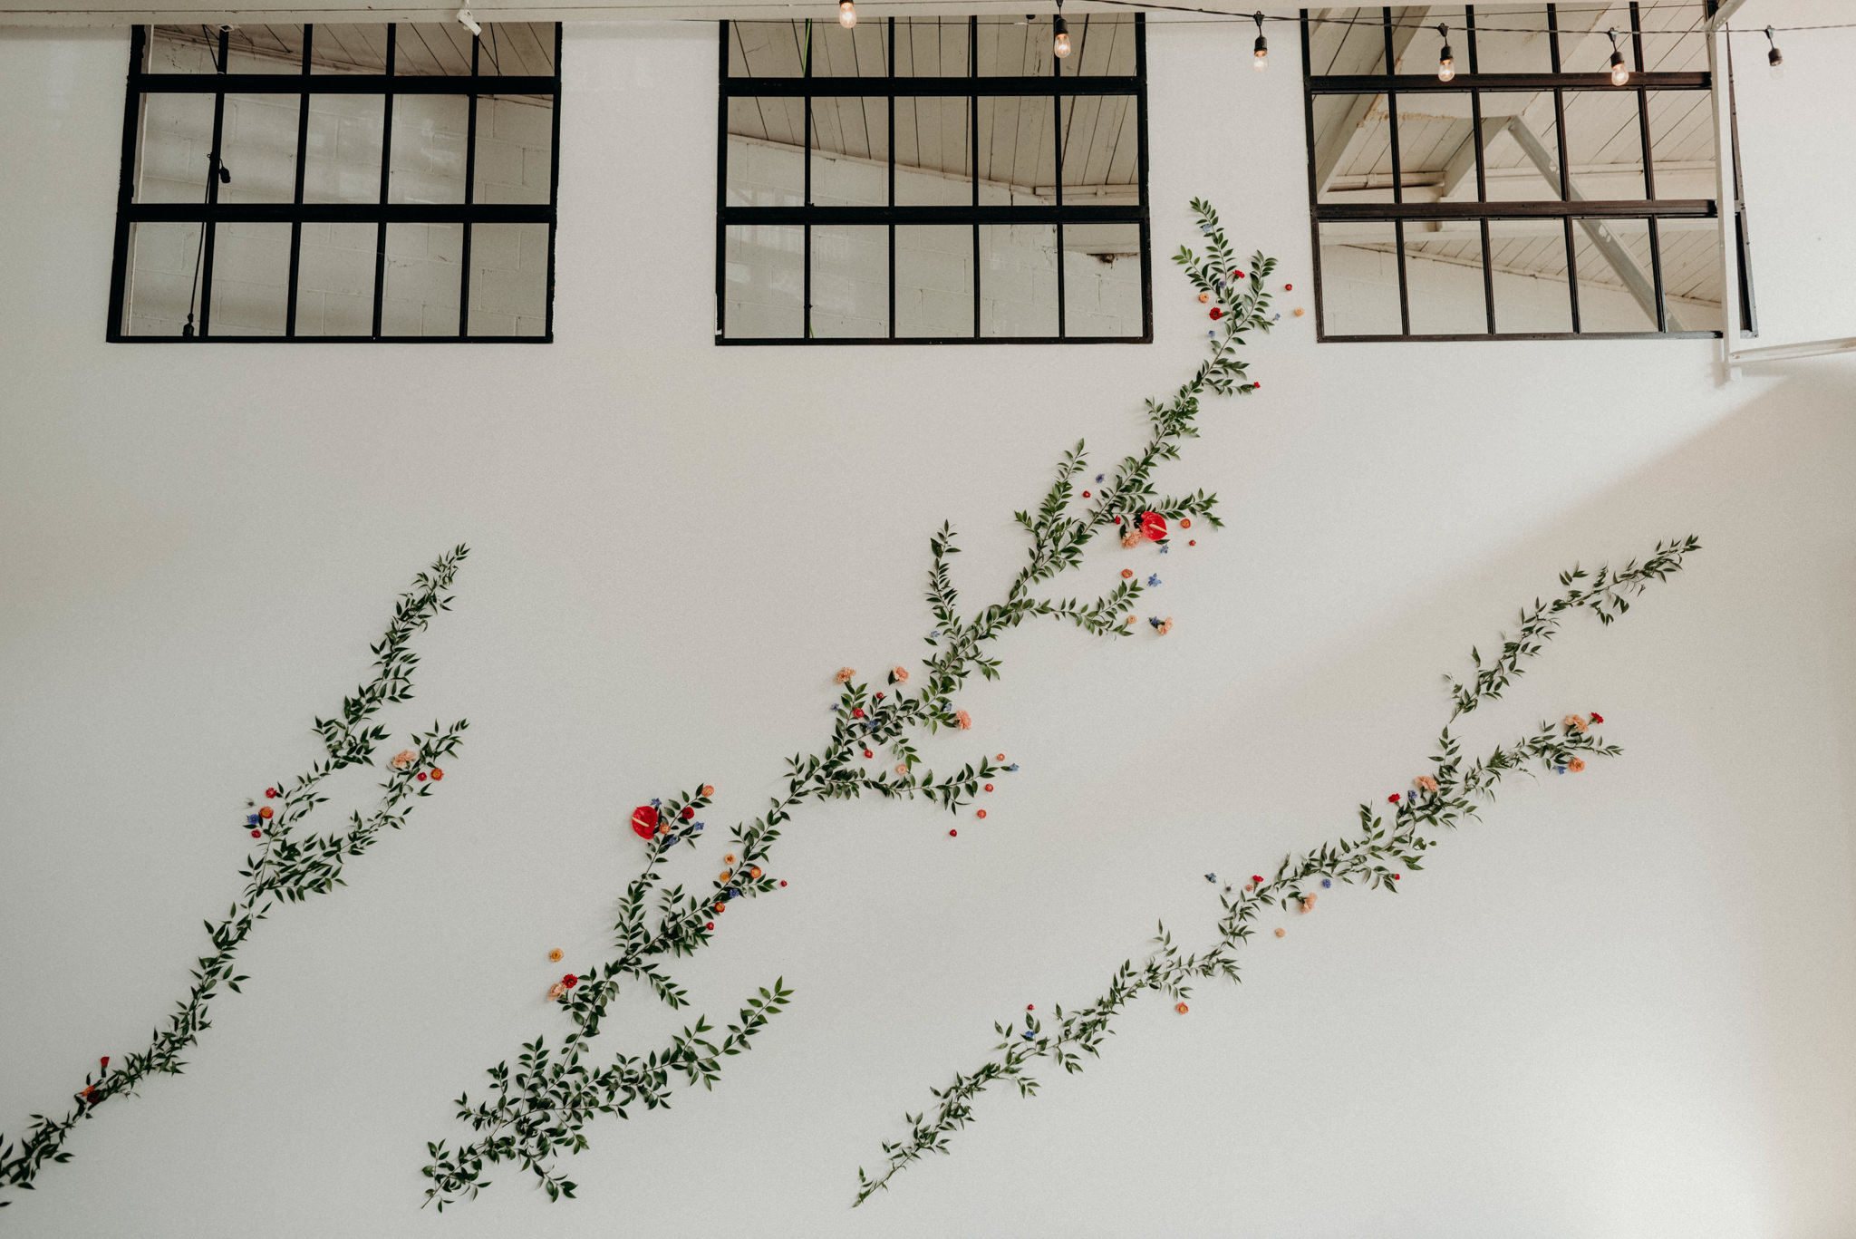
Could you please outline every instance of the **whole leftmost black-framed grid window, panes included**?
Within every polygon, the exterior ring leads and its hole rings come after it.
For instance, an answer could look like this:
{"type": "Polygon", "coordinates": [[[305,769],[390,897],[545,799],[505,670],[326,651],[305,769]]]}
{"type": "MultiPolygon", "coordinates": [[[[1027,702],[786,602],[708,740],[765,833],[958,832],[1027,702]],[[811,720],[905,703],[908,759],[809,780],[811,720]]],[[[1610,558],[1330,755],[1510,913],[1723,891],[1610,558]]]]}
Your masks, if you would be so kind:
{"type": "Polygon", "coordinates": [[[111,342],[553,340],[561,26],[137,26],[111,342]]]}

